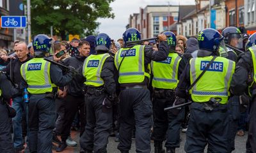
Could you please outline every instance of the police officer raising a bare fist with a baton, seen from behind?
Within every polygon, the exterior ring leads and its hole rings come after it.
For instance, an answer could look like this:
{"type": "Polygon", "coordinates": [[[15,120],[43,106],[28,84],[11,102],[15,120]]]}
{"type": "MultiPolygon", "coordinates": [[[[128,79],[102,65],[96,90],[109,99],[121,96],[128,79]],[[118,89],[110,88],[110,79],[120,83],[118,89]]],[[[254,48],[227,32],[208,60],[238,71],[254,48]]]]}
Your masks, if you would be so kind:
{"type": "Polygon", "coordinates": [[[134,120],[136,123],[136,152],[150,152],[150,128],[152,124],[152,102],[147,84],[150,80],[150,67],[153,61],[164,61],[168,57],[166,36],[160,34],[159,51],[148,45],[127,44],[127,41],[141,39],[140,32],[129,28],[123,34],[124,48],[115,55],[115,66],[119,72],[120,84],[120,143],[121,152],[131,149],[131,136],[134,120]]]}

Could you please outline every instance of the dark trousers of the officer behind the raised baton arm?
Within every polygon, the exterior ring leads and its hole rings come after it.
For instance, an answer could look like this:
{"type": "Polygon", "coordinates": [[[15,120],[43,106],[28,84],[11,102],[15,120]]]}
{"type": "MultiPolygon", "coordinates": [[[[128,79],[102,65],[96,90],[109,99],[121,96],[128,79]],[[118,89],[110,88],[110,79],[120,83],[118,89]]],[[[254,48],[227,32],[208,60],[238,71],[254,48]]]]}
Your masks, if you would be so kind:
{"type": "Polygon", "coordinates": [[[180,126],[184,120],[184,108],[178,114],[173,114],[172,110],[164,112],[164,108],[172,106],[175,101],[175,94],[172,92],[170,98],[153,98],[153,115],[154,115],[154,132],[152,138],[155,142],[163,142],[167,138],[165,147],[177,148],[180,147],[180,126]]]}

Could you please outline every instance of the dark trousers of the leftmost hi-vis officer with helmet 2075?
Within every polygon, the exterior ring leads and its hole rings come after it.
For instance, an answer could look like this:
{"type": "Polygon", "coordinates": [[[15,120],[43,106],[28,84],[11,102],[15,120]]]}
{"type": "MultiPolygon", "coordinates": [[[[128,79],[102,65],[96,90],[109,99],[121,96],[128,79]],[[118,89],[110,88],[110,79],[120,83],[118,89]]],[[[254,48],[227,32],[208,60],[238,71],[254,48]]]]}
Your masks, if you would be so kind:
{"type": "Polygon", "coordinates": [[[54,99],[46,98],[45,94],[31,94],[28,116],[30,152],[52,152],[52,129],[56,120],[54,99]]]}

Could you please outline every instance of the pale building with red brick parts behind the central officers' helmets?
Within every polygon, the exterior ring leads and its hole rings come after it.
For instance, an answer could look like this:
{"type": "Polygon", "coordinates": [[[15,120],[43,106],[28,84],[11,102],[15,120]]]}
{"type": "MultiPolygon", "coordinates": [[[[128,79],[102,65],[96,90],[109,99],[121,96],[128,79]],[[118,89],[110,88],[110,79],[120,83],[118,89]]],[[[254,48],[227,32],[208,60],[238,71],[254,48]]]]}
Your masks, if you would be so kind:
{"type": "MultiPolygon", "coordinates": [[[[140,13],[129,17],[129,27],[136,27],[141,37],[152,38],[162,31],[170,30],[179,17],[179,6],[173,5],[148,5],[140,8],[140,13]]],[[[175,31],[174,31],[175,32],[175,31]]]]}

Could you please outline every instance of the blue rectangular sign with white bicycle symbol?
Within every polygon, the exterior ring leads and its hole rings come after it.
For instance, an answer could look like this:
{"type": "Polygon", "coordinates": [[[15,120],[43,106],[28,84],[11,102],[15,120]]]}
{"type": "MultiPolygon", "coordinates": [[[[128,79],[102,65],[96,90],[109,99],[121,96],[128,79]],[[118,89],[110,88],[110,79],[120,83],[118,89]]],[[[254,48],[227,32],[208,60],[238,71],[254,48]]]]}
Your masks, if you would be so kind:
{"type": "Polygon", "coordinates": [[[1,16],[1,27],[15,28],[26,27],[26,16],[1,16]]]}

